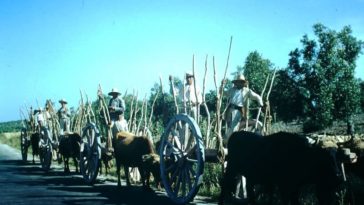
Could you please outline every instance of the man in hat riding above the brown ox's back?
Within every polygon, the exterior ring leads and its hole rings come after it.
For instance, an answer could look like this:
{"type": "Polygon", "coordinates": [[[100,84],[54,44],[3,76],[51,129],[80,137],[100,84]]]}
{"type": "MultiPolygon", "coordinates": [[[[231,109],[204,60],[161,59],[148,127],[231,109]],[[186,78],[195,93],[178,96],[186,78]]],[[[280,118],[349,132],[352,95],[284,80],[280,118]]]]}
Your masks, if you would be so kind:
{"type": "Polygon", "coordinates": [[[113,88],[111,92],[109,92],[109,95],[112,96],[109,101],[109,113],[112,123],[118,121],[119,116],[124,114],[125,111],[125,102],[123,99],[119,98],[120,94],[121,93],[116,88],[113,88]]]}

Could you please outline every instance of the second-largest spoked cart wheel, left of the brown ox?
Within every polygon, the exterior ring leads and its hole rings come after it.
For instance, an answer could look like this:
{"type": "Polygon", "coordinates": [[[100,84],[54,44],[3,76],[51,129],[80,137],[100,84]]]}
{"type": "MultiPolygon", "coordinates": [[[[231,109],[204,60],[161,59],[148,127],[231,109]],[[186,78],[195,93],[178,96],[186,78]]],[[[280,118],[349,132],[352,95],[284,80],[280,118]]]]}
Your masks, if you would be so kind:
{"type": "Polygon", "coordinates": [[[101,149],[99,147],[100,133],[96,125],[89,123],[82,130],[80,152],[80,171],[88,184],[94,184],[99,170],[101,149]]]}

